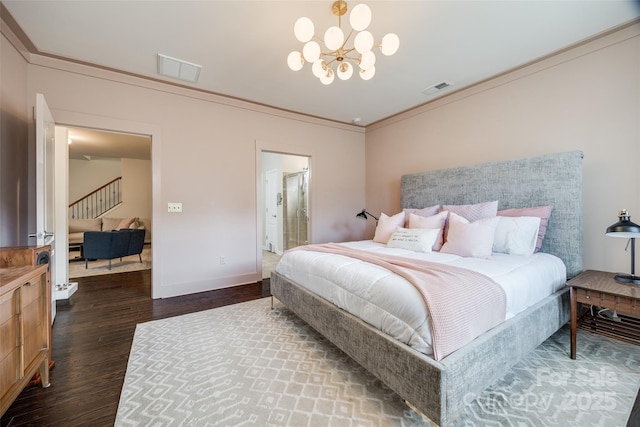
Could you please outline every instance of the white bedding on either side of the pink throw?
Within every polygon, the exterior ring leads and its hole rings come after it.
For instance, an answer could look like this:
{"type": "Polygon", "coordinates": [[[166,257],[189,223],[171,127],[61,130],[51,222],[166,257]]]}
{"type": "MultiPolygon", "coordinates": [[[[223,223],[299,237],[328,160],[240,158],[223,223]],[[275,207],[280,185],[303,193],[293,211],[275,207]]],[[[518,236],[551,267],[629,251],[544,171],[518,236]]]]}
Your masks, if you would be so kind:
{"type": "MultiPolygon", "coordinates": [[[[493,254],[490,259],[479,259],[388,248],[371,240],[343,245],[451,264],[482,273],[504,289],[507,319],[566,283],[563,262],[545,253],[531,256],[493,254]]],[[[404,278],[354,258],[306,250],[285,252],[276,271],[414,349],[433,354],[426,305],[404,278]]]]}

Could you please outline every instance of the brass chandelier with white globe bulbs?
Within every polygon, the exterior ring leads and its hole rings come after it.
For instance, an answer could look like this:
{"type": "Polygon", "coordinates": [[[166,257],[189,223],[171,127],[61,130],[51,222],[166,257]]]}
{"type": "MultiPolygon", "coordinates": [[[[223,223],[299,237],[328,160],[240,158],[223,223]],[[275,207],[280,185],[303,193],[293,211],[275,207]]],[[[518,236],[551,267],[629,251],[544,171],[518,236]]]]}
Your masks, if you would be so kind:
{"type": "MultiPolygon", "coordinates": [[[[336,74],[341,80],[348,80],[357,67],[358,74],[363,80],[371,79],[376,73],[376,55],[373,35],[366,31],[371,23],[371,9],[366,4],[359,4],[349,14],[351,30],[345,36],[342,30],[342,16],[347,13],[347,2],[338,0],[331,7],[332,13],[338,17],[338,26],[327,29],[324,38],[315,36],[315,28],[311,19],[299,18],[293,32],[296,38],[304,43],[302,53],[294,50],[287,57],[287,64],[293,71],[301,70],[305,62],[312,64],[311,71],[320,81],[329,85],[336,74]],[[347,43],[353,36],[353,47],[347,43]],[[324,48],[312,39],[324,42],[324,48]],[[326,51],[325,51],[326,49],[326,51]]],[[[389,33],[382,38],[379,47],[382,54],[390,56],[396,53],[400,46],[397,35],[389,33]]]]}

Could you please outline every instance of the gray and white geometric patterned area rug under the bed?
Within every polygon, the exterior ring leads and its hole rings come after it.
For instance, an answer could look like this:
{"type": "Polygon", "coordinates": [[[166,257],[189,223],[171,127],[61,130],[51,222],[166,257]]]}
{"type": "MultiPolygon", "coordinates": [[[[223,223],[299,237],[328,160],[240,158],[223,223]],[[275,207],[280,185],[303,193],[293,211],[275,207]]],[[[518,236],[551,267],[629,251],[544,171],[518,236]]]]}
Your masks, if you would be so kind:
{"type": "MultiPolygon", "coordinates": [[[[430,426],[270,298],[139,324],[116,426],[430,426]]],[[[462,426],[625,426],[640,349],[562,328],[480,396],[462,426]]]]}

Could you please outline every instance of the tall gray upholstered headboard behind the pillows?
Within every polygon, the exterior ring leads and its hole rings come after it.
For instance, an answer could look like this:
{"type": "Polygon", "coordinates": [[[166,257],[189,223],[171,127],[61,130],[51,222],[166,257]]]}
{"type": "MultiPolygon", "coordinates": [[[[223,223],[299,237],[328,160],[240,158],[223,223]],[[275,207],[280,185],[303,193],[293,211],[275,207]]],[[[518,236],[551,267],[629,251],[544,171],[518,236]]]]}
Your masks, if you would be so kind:
{"type": "Polygon", "coordinates": [[[541,252],[556,255],[567,276],[582,264],[582,152],[484,163],[403,175],[403,208],[498,200],[498,209],[551,205],[541,252]]]}

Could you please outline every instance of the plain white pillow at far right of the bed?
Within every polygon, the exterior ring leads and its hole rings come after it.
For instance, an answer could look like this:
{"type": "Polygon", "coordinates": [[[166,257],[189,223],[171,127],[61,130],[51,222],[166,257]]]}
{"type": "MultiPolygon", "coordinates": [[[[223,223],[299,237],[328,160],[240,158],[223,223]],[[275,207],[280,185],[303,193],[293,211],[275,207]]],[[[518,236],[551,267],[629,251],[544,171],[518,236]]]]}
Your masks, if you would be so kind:
{"type": "Polygon", "coordinates": [[[531,255],[536,249],[540,218],[499,216],[493,251],[511,255],[531,255]]]}

